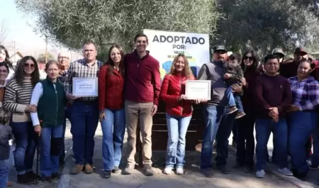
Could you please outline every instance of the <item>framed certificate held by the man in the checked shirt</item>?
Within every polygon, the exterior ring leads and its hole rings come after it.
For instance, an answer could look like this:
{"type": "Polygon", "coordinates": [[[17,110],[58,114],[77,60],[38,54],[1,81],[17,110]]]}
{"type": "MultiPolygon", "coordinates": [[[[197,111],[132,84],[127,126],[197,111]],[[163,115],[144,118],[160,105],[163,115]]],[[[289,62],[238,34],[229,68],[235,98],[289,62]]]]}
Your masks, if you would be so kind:
{"type": "Polygon", "coordinates": [[[74,96],[98,96],[98,78],[74,77],[72,81],[72,94],[74,96]]]}

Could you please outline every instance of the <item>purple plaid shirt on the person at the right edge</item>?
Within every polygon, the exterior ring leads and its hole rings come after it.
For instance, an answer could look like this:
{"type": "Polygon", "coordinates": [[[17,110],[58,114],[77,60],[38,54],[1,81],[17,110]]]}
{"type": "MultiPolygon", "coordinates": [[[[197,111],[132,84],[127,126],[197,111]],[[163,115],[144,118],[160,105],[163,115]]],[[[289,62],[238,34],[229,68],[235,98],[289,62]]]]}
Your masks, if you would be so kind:
{"type": "Polygon", "coordinates": [[[289,78],[293,104],[301,111],[313,110],[319,106],[319,82],[313,77],[298,82],[298,77],[289,78]]]}

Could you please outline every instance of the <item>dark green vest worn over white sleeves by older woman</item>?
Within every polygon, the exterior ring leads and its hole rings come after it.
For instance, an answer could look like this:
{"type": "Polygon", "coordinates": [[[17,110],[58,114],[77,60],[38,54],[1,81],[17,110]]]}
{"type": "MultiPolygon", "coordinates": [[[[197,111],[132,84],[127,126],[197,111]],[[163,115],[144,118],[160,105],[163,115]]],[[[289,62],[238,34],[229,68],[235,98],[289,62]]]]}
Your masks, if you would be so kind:
{"type": "Polygon", "coordinates": [[[38,103],[38,117],[41,126],[62,126],[67,102],[63,84],[59,80],[53,83],[50,79],[41,81],[41,84],[43,86],[43,94],[38,103]]]}

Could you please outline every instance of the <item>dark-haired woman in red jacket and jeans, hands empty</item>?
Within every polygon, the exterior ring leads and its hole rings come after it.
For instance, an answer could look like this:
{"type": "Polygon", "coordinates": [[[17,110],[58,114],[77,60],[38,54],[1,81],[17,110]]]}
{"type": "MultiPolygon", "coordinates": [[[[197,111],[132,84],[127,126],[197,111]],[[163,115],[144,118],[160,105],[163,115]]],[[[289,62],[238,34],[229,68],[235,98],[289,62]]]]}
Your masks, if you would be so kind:
{"type": "Polygon", "coordinates": [[[125,133],[123,101],[124,53],[119,45],[111,46],[108,62],[99,70],[99,120],[103,132],[102,159],[104,178],[118,173],[125,133]]]}

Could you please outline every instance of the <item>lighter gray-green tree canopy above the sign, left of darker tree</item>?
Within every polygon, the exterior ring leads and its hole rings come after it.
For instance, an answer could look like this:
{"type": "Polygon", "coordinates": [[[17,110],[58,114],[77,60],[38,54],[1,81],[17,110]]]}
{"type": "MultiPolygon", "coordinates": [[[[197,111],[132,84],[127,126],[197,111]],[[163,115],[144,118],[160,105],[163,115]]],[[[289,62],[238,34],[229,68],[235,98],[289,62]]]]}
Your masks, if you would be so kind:
{"type": "Polygon", "coordinates": [[[216,0],[16,0],[37,16],[38,31],[50,42],[79,49],[85,40],[120,43],[132,50],[143,29],[213,34],[220,13],[216,0]]]}

